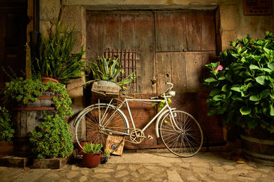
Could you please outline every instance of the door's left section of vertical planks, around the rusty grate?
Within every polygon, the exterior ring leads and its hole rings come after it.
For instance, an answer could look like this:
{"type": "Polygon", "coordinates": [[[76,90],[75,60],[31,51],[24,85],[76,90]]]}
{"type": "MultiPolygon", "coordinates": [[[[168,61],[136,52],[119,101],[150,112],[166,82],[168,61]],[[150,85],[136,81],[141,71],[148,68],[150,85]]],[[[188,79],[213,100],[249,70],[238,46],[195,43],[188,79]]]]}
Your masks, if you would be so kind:
{"type": "MultiPolygon", "coordinates": [[[[105,49],[136,50],[137,92],[155,93],[153,14],[87,13],[87,57],[103,55],[105,49]],[[145,25],[145,26],[144,26],[145,25]],[[144,69],[146,68],[146,69],[144,69]]],[[[125,66],[129,66],[125,64],[125,66]]],[[[125,70],[127,72],[127,70],[125,70]]]]}

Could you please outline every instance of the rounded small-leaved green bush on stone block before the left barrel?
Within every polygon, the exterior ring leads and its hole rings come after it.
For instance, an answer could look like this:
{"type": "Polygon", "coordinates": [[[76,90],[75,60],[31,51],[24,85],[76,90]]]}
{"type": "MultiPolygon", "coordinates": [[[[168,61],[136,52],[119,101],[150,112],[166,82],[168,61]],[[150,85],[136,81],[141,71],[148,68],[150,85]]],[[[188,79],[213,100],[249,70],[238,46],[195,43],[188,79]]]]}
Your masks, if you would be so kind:
{"type": "Polygon", "coordinates": [[[62,116],[45,116],[29,139],[38,158],[66,157],[73,152],[69,125],[62,116]]]}

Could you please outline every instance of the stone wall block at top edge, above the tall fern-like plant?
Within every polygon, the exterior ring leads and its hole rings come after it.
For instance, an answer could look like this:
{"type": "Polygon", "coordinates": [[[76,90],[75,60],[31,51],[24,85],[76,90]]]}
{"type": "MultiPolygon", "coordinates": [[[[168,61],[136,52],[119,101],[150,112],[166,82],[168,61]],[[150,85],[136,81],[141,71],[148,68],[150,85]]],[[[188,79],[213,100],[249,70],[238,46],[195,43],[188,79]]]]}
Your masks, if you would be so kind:
{"type": "Polygon", "coordinates": [[[40,0],[40,20],[54,21],[58,19],[62,5],[56,0],[40,0]]]}

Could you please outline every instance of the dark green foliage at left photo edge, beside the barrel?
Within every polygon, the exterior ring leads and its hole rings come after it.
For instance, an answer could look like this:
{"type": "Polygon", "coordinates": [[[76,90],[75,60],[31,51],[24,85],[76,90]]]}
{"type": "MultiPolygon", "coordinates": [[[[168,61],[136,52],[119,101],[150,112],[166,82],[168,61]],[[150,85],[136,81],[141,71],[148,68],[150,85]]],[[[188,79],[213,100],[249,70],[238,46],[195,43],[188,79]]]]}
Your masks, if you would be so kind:
{"type": "Polygon", "coordinates": [[[11,116],[5,107],[0,107],[0,140],[8,142],[12,140],[14,129],[12,128],[11,116]]]}

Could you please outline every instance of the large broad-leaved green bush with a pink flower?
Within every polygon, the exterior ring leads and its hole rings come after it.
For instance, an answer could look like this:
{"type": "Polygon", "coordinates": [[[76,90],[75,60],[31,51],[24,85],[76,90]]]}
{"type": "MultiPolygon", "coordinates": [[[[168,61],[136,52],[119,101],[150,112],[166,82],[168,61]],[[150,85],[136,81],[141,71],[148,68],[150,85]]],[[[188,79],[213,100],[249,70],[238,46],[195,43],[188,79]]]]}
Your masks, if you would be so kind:
{"type": "Polygon", "coordinates": [[[220,62],[207,64],[210,76],[208,115],[220,114],[227,124],[274,132],[274,36],[247,35],[230,42],[232,49],[220,53],[220,62]]]}

